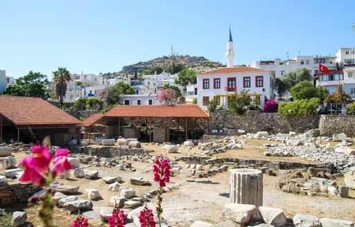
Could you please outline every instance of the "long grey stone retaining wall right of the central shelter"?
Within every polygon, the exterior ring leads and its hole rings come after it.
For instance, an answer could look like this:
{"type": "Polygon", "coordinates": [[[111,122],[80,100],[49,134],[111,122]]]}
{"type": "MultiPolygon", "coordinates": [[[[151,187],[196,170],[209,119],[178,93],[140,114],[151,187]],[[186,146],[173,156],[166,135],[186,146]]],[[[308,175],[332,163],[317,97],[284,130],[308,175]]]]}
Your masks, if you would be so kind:
{"type": "Polygon", "coordinates": [[[284,118],[282,114],[247,111],[244,115],[227,114],[224,110],[210,113],[209,133],[211,129],[223,129],[225,135],[236,134],[238,129],[246,133],[268,131],[269,134],[288,133],[295,131],[303,133],[309,129],[318,129],[319,116],[311,115],[301,118],[284,118]]]}

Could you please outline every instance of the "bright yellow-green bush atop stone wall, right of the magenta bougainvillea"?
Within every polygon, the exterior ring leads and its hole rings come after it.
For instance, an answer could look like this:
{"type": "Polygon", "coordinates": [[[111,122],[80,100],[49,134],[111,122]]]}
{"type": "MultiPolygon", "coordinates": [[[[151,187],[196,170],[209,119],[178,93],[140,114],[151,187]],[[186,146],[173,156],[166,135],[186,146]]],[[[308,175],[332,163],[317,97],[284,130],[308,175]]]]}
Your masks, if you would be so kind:
{"type": "Polygon", "coordinates": [[[309,100],[297,100],[295,102],[283,102],[279,105],[278,112],[286,117],[289,116],[306,116],[309,114],[317,114],[319,98],[311,98],[309,100]]]}

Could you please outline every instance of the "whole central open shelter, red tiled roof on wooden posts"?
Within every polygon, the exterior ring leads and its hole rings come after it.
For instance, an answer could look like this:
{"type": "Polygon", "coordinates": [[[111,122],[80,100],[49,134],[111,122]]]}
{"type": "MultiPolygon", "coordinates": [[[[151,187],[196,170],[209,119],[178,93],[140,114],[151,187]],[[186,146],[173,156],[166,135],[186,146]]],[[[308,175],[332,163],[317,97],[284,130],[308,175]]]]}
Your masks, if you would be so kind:
{"type": "Polygon", "coordinates": [[[149,128],[149,141],[152,142],[152,125],[165,125],[167,127],[167,140],[169,139],[169,129],[174,126],[179,129],[184,127],[185,140],[188,138],[189,120],[194,122],[195,131],[198,120],[206,121],[206,131],[209,127],[209,114],[198,105],[117,105],[104,114],[105,117],[118,118],[118,135],[121,131],[121,119],[125,122],[131,121],[133,127],[133,137],[135,137],[135,127],[137,122],[144,122],[146,131],[149,128]]]}

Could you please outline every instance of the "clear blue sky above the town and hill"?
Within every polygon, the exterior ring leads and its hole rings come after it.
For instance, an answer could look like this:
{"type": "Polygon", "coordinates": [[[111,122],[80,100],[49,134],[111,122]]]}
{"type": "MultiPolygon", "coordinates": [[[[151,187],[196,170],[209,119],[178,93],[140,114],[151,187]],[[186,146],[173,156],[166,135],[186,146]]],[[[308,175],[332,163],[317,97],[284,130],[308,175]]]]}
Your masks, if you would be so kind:
{"type": "Polygon", "coordinates": [[[234,64],[353,47],[354,0],[344,1],[0,1],[0,69],[18,78],[107,73],[170,55],[225,64],[231,26],[234,64]]]}

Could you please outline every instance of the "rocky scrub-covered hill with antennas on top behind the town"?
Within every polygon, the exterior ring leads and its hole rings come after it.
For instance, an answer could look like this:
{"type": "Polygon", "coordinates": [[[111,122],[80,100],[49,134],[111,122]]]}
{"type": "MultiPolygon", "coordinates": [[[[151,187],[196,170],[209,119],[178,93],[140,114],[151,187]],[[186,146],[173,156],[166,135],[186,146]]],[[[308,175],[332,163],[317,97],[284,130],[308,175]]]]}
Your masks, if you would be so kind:
{"type": "Polygon", "coordinates": [[[119,73],[122,74],[134,74],[135,70],[138,73],[144,71],[145,69],[152,69],[155,66],[162,67],[164,71],[169,71],[171,64],[175,64],[175,66],[182,66],[183,68],[189,69],[213,69],[216,67],[223,66],[219,62],[212,62],[207,60],[205,57],[195,57],[189,55],[171,55],[171,56],[163,56],[157,57],[153,60],[146,62],[138,62],[136,64],[131,64],[129,66],[123,66],[122,71],[119,73]]]}

